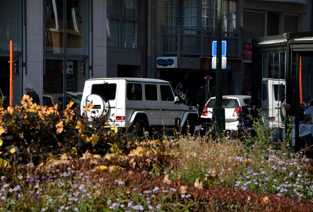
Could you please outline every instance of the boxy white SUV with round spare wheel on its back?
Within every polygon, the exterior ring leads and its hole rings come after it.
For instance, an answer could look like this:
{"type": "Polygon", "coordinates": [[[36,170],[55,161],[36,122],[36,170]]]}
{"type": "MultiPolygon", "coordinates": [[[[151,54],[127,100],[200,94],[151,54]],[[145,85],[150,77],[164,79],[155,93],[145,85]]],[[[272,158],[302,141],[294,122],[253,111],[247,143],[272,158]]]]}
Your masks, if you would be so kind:
{"type": "MultiPolygon", "coordinates": [[[[103,118],[104,127],[129,128],[133,123],[146,131],[182,126],[194,129],[198,109],[179,103],[168,81],[145,78],[87,79],[81,114],[89,120],[103,118]],[[88,103],[94,107],[85,112],[88,103]],[[177,124],[179,123],[179,125],[177,124]]],[[[134,124],[134,125],[136,125],[134,124]]],[[[164,130],[164,129],[163,129],[164,130]]]]}

